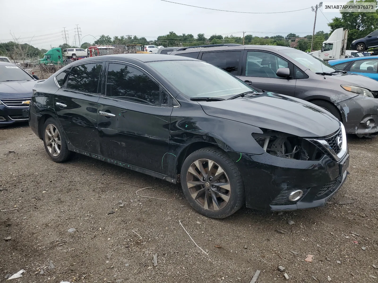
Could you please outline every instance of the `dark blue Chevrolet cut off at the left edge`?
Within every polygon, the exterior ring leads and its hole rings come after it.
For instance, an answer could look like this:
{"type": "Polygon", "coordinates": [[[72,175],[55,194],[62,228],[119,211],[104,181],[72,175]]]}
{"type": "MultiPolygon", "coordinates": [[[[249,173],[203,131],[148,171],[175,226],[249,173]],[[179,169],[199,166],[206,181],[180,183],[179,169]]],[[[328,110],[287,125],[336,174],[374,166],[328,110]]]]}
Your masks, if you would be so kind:
{"type": "Polygon", "coordinates": [[[38,77],[0,62],[0,127],[29,120],[29,101],[38,77]]]}

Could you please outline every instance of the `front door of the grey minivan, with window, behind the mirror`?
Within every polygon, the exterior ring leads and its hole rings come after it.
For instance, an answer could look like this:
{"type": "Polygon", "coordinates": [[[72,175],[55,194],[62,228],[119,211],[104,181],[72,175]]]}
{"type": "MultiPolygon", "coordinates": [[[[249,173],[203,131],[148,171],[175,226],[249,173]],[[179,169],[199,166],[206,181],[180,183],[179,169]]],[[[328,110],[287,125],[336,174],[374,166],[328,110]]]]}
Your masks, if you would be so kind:
{"type": "Polygon", "coordinates": [[[239,78],[256,88],[294,96],[296,84],[294,66],[276,54],[245,50],[241,72],[239,78]],[[278,77],[276,75],[278,68],[289,68],[290,77],[278,77]]]}

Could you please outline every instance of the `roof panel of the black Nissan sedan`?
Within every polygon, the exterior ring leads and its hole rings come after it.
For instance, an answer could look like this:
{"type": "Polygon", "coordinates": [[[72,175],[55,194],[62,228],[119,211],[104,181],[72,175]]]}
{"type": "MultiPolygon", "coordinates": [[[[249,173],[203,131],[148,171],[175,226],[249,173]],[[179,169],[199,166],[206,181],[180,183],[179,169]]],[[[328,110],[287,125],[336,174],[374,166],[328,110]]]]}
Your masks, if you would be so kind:
{"type": "MultiPolygon", "coordinates": [[[[96,57],[88,57],[80,59],[78,62],[88,62],[88,61],[101,61],[101,60],[120,60],[124,61],[127,59],[138,60],[140,62],[155,62],[155,61],[200,61],[194,58],[173,56],[165,54],[112,54],[112,55],[101,55],[96,57]]],[[[75,64],[76,65],[76,64],[75,64]]]]}

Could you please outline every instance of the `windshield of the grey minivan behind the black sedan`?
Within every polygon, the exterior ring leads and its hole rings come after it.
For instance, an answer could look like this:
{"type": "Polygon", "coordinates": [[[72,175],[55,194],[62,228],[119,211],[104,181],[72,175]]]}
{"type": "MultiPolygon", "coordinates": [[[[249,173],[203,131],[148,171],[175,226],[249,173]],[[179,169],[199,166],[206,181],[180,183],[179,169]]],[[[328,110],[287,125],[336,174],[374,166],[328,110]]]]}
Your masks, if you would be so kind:
{"type": "Polygon", "coordinates": [[[314,73],[330,73],[337,71],[336,68],[332,67],[328,63],[325,63],[324,61],[315,58],[306,52],[296,49],[283,49],[281,52],[288,55],[290,58],[293,58],[295,61],[307,67],[314,73]]]}

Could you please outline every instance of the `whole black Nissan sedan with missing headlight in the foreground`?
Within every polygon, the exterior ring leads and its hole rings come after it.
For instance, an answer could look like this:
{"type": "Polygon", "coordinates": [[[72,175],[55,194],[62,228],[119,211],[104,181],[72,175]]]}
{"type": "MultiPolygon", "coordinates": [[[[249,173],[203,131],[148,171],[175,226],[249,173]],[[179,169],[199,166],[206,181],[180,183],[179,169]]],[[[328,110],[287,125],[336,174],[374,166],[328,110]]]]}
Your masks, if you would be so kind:
{"type": "Polygon", "coordinates": [[[258,92],[209,63],[121,54],[37,83],[30,126],[56,162],[74,152],[171,183],[203,215],[325,205],[347,176],[345,130],[297,98],[258,92]]]}

